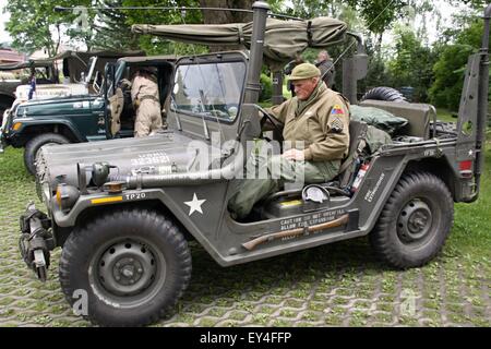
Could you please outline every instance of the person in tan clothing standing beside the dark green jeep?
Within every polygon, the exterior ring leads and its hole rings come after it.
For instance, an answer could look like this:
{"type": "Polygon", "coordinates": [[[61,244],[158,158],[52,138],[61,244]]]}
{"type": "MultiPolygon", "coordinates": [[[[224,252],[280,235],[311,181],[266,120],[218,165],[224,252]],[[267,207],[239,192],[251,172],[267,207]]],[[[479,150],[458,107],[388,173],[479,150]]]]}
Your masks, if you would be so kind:
{"type": "Polygon", "coordinates": [[[131,100],[136,111],[134,123],[136,137],[152,135],[161,129],[156,68],[142,67],[139,69],[131,86],[131,100]]]}

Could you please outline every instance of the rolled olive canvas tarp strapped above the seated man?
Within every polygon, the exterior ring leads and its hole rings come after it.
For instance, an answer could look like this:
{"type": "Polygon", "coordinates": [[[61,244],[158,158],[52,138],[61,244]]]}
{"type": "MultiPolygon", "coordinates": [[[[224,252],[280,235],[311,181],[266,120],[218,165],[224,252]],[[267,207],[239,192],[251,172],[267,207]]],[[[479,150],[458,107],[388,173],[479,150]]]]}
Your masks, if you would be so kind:
{"type": "MultiPolygon", "coordinates": [[[[344,39],[346,23],[316,17],[310,21],[280,21],[268,19],[266,23],[264,56],[266,62],[280,65],[295,59],[306,48],[323,48],[344,39]]],[[[136,24],[132,31],[152,34],[170,40],[209,46],[243,45],[250,48],[252,22],[230,24],[136,24]]]]}

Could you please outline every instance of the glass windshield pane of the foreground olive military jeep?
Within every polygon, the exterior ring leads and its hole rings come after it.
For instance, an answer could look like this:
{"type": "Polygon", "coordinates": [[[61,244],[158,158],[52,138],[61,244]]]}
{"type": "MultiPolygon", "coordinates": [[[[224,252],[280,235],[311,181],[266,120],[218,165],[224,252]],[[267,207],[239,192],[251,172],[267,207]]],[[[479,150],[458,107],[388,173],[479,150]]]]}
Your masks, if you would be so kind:
{"type": "Polygon", "coordinates": [[[243,62],[180,65],[175,76],[175,111],[236,119],[246,81],[243,62]]]}

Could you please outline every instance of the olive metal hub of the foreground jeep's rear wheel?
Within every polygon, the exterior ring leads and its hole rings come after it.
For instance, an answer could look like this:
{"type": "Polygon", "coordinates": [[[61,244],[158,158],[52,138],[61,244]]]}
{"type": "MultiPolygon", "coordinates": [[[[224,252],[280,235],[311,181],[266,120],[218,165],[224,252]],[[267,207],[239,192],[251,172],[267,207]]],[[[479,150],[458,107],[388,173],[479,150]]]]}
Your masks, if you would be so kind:
{"type": "Polygon", "coordinates": [[[412,200],[399,214],[397,234],[405,242],[418,241],[428,234],[432,221],[430,206],[421,200],[412,200]]]}

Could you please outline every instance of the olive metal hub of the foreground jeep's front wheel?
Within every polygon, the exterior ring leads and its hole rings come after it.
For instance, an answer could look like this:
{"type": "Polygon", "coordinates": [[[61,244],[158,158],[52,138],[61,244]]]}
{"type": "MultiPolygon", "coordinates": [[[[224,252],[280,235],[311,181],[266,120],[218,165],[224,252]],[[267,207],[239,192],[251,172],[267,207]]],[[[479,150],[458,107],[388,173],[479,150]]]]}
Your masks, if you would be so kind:
{"type": "Polygon", "coordinates": [[[98,276],[112,294],[133,296],[144,291],[155,279],[153,253],[135,241],[124,241],[107,249],[99,258],[98,276]]]}

